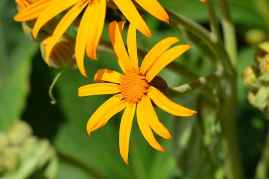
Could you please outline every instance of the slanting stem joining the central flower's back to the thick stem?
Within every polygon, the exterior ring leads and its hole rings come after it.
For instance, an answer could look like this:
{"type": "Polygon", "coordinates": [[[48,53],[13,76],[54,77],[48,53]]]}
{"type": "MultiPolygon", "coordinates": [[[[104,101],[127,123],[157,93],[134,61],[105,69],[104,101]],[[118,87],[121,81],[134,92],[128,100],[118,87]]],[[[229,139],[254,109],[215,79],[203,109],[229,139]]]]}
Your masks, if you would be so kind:
{"type": "Polygon", "coordinates": [[[217,71],[211,75],[208,75],[205,77],[200,77],[194,81],[191,81],[190,83],[183,84],[181,86],[174,87],[174,88],[169,88],[168,96],[169,96],[169,98],[175,98],[175,97],[184,95],[186,93],[190,93],[197,88],[200,88],[200,87],[202,87],[206,84],[212,83],[214,81],[218,81],[218,80],[222,79],[223,77],[225,77],[223,72],[217,71]]]}

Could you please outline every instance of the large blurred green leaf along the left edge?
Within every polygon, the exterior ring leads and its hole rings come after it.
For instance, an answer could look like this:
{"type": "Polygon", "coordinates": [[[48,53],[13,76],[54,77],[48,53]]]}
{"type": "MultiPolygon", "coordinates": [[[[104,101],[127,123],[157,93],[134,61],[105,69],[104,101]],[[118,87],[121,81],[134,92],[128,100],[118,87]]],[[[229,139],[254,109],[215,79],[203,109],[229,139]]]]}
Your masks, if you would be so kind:
{"type": "Polygon", "coordinates": [[[0,130],[7,130],[26,104],[31,59],[37,44],[27,39],[15,23],[13,1],[0,3],[0,130]],[[10,7],[12,6],[12,7],[10,7]]]}

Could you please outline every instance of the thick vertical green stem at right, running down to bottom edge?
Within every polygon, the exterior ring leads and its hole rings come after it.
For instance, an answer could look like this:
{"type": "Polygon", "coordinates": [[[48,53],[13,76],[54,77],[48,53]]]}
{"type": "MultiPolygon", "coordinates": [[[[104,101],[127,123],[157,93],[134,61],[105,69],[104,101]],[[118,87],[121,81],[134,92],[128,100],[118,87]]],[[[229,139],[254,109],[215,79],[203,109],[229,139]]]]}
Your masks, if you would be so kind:
{"type": "Polygon", "coordinates": [[[217,118],[221,125],[221,142],[225,151],[227,178],[243,178],[240,151],[237,139],[236,78],[223,79],[220,83],[220,110],[217,118]]]}

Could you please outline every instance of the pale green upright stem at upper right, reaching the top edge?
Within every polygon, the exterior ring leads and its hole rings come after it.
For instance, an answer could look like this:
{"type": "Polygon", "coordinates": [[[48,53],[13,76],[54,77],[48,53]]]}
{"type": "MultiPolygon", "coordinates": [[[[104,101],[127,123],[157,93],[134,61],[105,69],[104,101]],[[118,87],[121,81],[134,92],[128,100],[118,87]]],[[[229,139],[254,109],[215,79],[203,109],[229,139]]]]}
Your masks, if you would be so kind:
{"type": "Polygon", "coordinates": [[[221,24],[224,36],[224,46],[231,60],[231,64],[233,68],[235,68],[237,59],[237,42],[235,27],[226,1],[218,0],[218,3],[222,14],[221,24]]]}

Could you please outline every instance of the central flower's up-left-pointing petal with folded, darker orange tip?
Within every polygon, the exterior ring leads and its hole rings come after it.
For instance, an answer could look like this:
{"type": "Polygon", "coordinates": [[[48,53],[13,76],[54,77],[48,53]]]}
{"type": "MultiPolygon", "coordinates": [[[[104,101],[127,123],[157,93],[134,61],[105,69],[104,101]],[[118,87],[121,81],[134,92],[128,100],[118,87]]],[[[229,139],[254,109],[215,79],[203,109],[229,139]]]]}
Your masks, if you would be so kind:
{"type": "Polygon", "coordinates": [[[109,35],[111,39],[112,46],[115,50],[115,54],[117,56],[120,68],[123,72],[126,72],[127,68],[131,68],[132,64],[130,58],[127,54],[125,45],[122,41],[122,37],[119,31],[119,27],[116,21],[113,21],[109,24],[109,35]]]}

